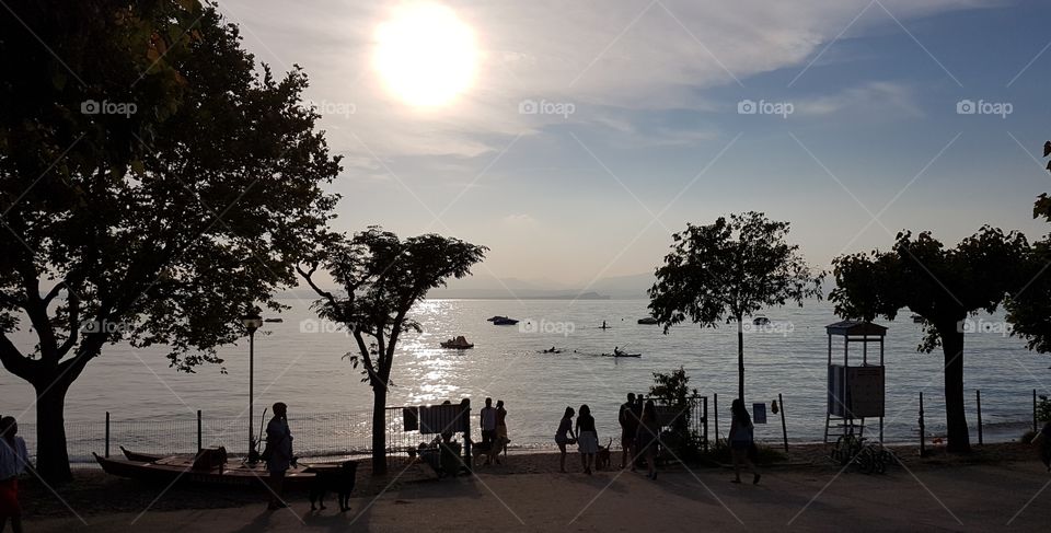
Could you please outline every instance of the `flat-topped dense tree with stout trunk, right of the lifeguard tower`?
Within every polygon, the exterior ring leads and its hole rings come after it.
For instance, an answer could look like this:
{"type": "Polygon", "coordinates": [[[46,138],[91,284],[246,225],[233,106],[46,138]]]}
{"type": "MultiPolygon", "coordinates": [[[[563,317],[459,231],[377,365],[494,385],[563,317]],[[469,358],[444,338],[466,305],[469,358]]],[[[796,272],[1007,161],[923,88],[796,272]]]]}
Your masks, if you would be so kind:
{"type": "Polygon", "coordinates": [[[830,294],[844,318],[893,320],[908,308],[923,317],[917,349],[942,347],[945,374],[947,450],[967,452],[963,412],[963,333],[969,315],[996,311],[1025,282],[1029,245],[1018,232],[984,227],[955,248],[923,232],[898,234],[890,252],[838,257],[836,288],[830,294]]]}

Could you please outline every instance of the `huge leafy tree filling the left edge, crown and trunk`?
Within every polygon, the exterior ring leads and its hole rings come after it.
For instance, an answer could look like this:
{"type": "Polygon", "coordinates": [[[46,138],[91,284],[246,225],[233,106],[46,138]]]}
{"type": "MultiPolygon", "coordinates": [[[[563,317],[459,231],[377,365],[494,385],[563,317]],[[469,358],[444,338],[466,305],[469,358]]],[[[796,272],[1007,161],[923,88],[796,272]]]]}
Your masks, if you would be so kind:
{"type": "Polygon", "coordinates": [[[279,308],[336,201],[305,86],[196,0],[0,10],[0,362],[36,391],[46,479],[71,477],[66,394],[104,347],[190,371],[279,308]]]}

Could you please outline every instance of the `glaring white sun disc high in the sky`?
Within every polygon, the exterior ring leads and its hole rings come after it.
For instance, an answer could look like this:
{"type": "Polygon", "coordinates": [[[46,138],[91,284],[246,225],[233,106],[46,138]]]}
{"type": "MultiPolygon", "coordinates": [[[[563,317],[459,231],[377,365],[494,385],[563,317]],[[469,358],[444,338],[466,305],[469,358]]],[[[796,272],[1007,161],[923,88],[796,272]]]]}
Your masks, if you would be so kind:
{"type": "Polygon", "coordinates": [[[474,32],[444,5],[402,8],[377,28],[373,61],[388,90],[409,105],[449,104],[474,80],[474,32]]]}

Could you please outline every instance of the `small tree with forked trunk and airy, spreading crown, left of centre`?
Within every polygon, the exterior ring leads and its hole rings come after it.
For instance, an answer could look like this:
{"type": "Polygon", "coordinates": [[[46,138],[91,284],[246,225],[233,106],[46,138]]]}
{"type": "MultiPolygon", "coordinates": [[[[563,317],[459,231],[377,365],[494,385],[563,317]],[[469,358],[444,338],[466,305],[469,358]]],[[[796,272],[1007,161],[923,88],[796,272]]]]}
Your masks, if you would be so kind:
{"type": "Polygon", "coordinates": [[[426,234],[400,240],[378,227],[330,246],[322,263],[300,268],[321,299],[317,314],[346,326],[354,350],[346,355],[361,367],[361,381],[372,387],[372,472],[386,473],[386,395],[402,335],[419,332],[413,306],[449,278],[471,274],[488,248],[453,237],[426,234]],[[322,266],[339,287],[322,289],[313,279],[322,266]]]}

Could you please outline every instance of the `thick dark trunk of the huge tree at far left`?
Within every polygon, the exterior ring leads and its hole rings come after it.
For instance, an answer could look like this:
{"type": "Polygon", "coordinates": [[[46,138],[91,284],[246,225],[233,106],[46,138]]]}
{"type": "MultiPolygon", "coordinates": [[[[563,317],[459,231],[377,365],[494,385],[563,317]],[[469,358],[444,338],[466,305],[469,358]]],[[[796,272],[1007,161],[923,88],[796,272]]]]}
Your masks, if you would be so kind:
{"type": "Polygon", "coordinates": [[[73,479],[66,450],[66,392],[69,385],[41,380],[36,389],[36,472],[49,484],[73,479]]]}

